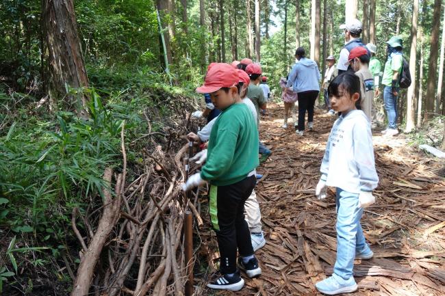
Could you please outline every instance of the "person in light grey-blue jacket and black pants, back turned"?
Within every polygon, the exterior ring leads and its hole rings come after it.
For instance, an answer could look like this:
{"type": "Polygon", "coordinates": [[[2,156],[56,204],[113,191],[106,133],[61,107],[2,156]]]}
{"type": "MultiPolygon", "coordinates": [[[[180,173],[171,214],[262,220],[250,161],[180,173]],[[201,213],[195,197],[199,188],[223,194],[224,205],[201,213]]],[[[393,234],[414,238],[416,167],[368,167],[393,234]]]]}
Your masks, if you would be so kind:
{"type": "Polygon", "coordinates": [[[314,126],[314,105],[320,92],[320,70],[317,63],[305,57],[305,49],[298,47],[295,57],[298,60],[289,73],[286,88],[294,87],[298,94],[298,131],[297,135],[303,135],[305,131],[305,117],[307,110],[307,129],[312,130],[314,126]]]}

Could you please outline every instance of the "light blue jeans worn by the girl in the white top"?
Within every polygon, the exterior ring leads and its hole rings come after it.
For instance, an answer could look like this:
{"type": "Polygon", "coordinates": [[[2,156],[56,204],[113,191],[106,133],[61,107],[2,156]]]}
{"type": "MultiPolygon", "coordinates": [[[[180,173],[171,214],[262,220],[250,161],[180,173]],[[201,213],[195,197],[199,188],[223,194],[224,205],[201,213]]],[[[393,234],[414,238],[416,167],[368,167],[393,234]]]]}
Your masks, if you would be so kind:
{"type": "Polygon", "coordinates": [[[360,219],[363,208],[359,208],[359,195],[337,188],[337,260],[334,273],[344,280],[353,276],[355,252],[366,247],[360,219]]]}

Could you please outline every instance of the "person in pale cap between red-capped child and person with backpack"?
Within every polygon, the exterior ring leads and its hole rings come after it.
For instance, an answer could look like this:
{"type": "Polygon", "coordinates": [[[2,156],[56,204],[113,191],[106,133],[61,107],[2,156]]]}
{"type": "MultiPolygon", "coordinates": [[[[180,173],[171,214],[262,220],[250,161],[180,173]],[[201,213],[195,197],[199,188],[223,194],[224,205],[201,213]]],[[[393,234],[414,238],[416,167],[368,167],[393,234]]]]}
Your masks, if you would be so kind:
{"type": "Polygon", "coordinates": [[[372,43],[366,44],[366,47],[369,49],[371,53],[371,59],[369,62],[369,70],[374,77],[374,104],[372,107],[372,128],[376,128],[377,126],[383,126],[383,122],[385,121],[385,111],[383,109],[383,100],[381,100],[380,96],[380,77],[383,75],[381,72],[381,62],[377,57],[375,57],[377,53],[377,46],[372,43]]]}

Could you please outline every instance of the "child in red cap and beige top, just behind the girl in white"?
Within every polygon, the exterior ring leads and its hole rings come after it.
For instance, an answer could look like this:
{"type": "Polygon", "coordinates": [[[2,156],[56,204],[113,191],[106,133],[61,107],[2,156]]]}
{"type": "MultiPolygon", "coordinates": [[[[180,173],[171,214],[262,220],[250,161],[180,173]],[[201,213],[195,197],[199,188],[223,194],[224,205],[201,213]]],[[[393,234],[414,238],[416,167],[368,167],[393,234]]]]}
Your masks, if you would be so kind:
{"type": "Polygon", "coordinates": [[[360,79],[360,109],[364,111],[368,120],[371,121],[372,101],[374,100],[374,77],[368,68],[369,61],[368,51],[363,46],[357,46],[349,53],[347,64],[351,65],[355,75],[360,79]]]}

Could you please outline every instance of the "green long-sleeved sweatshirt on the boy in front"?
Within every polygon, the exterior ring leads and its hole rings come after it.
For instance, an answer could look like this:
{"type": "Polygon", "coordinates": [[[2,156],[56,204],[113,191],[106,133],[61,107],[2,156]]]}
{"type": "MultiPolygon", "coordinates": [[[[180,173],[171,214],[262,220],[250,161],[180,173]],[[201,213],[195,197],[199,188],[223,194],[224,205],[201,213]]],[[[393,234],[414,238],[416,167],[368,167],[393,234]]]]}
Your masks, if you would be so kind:
{"type": "Polygon", "coordinates": [[[245,104],[233,104],[212,127],[201,178],[216,186],[231,185],[258,165],[258,131],[252,113],[245,104]]]}

